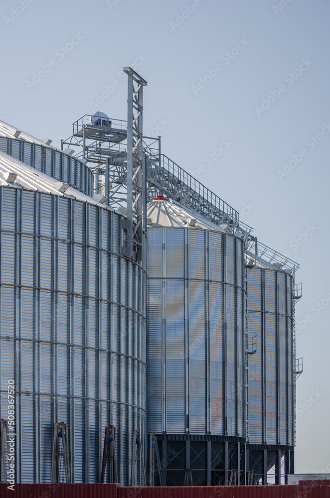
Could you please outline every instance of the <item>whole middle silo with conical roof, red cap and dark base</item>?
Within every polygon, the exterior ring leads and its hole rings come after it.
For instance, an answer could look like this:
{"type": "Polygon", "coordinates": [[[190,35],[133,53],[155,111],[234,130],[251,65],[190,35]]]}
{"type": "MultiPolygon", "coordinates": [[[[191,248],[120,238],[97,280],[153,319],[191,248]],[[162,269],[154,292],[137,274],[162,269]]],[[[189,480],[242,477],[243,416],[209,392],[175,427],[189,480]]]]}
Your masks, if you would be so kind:
{"type": "Polygon", "coordinates": [[[148,432],[167,485],[224,483],[244,473],[244,243],[166,200],[147,216],[148,432]]]}

